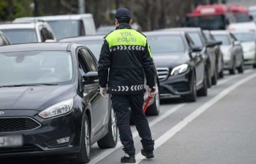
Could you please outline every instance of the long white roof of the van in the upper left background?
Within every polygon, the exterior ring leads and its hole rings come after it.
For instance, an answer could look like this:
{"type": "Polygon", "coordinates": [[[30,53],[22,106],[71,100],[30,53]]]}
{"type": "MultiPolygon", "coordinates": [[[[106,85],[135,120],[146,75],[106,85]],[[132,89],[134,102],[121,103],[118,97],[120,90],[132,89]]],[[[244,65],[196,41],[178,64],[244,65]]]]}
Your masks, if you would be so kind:
{"type": "Polygon", "coordinates": [[[50,15],[42,17],[19,17],[15,20],[80,20],[83,17],[92,17],[91,14],[81,15],[50,15]]]}

